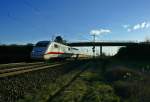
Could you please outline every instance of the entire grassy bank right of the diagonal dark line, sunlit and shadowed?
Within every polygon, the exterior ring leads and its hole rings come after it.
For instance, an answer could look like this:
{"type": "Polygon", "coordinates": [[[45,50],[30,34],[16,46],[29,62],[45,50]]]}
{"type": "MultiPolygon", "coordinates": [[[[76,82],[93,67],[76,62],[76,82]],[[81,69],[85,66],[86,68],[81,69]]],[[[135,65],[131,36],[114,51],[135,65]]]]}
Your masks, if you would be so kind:
{"type": "Polygon", "coordinates": [[[149,102],[149,72],[149,62],[95,60],[52,102],[149,102]]]}

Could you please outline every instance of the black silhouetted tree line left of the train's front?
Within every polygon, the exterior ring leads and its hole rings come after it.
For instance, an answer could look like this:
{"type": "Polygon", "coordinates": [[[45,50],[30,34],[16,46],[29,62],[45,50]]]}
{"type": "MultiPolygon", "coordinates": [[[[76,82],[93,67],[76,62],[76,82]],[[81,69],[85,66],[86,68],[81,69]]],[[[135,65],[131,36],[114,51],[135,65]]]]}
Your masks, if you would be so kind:
{"type": "Polygon", "coordinates": [[[29,61],[33,44],[0,45],[0,63],[29,61]]]}

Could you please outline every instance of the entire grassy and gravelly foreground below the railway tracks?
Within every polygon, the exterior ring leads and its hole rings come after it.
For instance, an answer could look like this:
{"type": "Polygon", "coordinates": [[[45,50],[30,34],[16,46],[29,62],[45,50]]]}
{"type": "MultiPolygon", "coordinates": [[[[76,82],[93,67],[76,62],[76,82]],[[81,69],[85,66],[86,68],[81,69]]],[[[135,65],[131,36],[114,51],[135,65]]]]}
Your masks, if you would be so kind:
{"type": "Polygon", "coordinates": [[[149,102],[150,62],[98,58],[0,79],[0,102],[149,102]]]}

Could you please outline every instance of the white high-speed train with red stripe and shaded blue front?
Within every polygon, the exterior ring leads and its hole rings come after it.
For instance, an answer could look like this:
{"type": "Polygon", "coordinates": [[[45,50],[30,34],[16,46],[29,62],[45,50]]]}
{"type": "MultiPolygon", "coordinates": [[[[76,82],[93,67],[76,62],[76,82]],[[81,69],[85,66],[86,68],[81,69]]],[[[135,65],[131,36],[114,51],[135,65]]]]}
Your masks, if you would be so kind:
{"type": "MultiPolygon", "coordinates": [[[[66,59],[71,57],[83,57],[76,48],[50,41],[39,41],[31,52],[32,59],[66,59]]],[[[85,57],[85,56],[84,56],[85,57]]]]}

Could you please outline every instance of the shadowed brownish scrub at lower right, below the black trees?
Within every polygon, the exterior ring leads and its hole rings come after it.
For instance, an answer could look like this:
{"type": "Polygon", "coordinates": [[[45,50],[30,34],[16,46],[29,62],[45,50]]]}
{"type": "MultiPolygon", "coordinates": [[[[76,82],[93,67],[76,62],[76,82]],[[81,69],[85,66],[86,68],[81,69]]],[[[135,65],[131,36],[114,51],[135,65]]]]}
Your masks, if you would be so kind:
{"type": "Polygon", "coordinates": [[[149,72],[149,61],[112,59],[105,71],[105,79],[123,102],[149,102],[149,72]]]}

